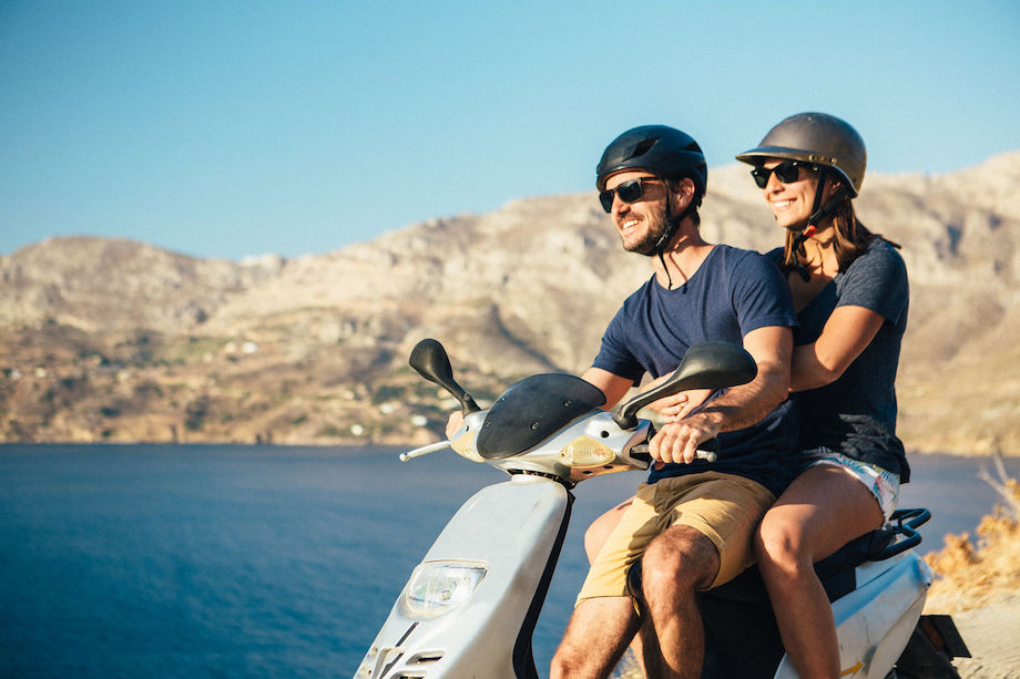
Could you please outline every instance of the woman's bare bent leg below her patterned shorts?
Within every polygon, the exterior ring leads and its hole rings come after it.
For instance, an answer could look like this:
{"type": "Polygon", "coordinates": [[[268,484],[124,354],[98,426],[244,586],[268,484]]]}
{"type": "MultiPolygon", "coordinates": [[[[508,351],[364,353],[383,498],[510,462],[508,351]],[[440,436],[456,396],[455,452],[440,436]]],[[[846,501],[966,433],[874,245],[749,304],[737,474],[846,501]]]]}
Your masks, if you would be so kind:
{"type": "Polygon", "coordinates": [[[833,608],[814,564],[883,521],[867,486],[828,464],[800,474],[762,519],[755,555],[802,679],[838,679],[840,671],[833,608]]]}

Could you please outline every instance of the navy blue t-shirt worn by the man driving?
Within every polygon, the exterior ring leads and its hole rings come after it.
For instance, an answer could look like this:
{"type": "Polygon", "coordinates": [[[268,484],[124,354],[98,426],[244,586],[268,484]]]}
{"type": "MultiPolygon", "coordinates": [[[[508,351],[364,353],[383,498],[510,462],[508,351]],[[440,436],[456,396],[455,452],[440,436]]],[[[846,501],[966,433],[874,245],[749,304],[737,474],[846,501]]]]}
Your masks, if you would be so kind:
{"type": "MultiPolygon", "coordinates": [[[[655,280],[631,295],[602,337],[594,367],[640,383],[680,364],[697,342],[743,342],[752,330],[797,325],[789,289],[776,266],[757,253],[716,245],[697,271],[680,288],[666,290],[655,280]]],[[[713,463],[667,464],[649,481],[705,471],[757,481],[776,496],[796,474],[797,423],[785,401],[747,429],[716,438],[713,463]]]]}

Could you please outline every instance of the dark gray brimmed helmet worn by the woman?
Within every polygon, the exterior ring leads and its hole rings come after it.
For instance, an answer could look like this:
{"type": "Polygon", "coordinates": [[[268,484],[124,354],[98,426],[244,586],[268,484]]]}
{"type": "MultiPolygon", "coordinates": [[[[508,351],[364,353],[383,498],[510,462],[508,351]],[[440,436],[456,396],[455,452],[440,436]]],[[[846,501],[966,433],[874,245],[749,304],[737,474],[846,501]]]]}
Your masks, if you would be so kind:
{"type": "Polygon", "coordinates": [[[755,148],[736,156],[751,165],[763,158],[788,158],[832,167],[846,178],[850,195],[856,196],[864,183],[868,152],[864,140],[845,121],[826,113],[798,113],[769,130],[755,148]]]}

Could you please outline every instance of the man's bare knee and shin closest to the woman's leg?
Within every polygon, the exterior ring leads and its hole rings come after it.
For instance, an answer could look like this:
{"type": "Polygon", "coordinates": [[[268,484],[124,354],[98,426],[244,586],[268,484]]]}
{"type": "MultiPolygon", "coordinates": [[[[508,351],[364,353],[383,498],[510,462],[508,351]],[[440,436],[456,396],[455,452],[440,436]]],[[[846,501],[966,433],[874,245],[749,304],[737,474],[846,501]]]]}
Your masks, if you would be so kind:
{"type": "Polygon", "coordinates": [[[705,630],[694,595],[712,585],[718,569],[718,549],[691,526],[673,526],[649,545],[641,570],[650,677],[701,677],[705,630]]]}

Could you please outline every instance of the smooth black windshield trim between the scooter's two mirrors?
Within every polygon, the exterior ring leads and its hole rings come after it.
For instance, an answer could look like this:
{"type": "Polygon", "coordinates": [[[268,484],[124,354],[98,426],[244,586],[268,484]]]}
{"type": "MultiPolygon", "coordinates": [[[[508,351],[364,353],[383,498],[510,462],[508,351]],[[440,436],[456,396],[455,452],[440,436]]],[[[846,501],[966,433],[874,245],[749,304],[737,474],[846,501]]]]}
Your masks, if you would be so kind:
{"type": "Polygon", "coordinates": [[[572,374],[524,378],[489,409],[476,442],[478,454],[502,460],[523,453],[603,403],[601,389],[572,374]]]}

